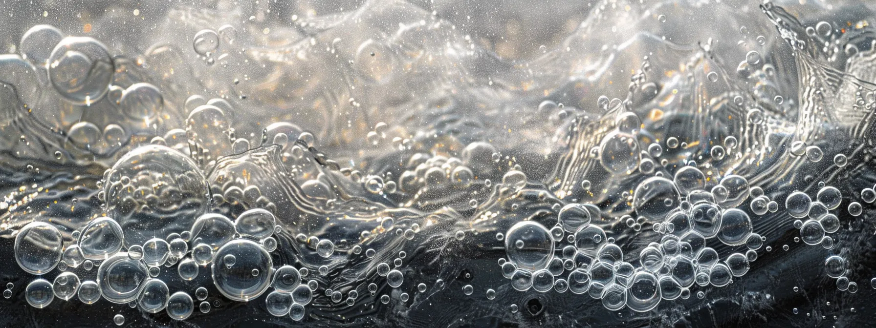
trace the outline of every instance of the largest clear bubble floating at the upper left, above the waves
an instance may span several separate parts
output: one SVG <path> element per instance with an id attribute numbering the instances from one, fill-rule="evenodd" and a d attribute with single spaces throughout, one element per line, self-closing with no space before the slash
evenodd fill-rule
<path id="1" fill-rule="evenodd" d="M 63 38 L 48 59 L 48 76 L 55 91 L 76 105 L 101 100 L 109 91 L 115 69 L 106 45 L 94 38 Z"/>

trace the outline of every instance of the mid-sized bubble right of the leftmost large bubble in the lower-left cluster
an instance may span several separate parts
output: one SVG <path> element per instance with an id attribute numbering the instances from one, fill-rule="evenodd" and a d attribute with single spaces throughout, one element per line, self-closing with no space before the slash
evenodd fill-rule
<path id="1" fill-rule="evenodd" d="M 79 247 L 88 260 L 104 260 L 122 249 L 124 234 L 115 220 L 100 217 L 82 228 Z"/>

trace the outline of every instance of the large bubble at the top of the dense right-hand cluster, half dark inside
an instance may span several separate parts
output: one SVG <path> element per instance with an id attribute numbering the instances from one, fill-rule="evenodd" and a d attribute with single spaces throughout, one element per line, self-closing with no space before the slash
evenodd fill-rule
<path id="1" fill-rule="evenodd" d="M 647 220 L 660 221 L 678 206 L 679 197 L 678 190 L 668 178 L 647 178 L 636 187 L 632 196 L 632 207 Z"/>

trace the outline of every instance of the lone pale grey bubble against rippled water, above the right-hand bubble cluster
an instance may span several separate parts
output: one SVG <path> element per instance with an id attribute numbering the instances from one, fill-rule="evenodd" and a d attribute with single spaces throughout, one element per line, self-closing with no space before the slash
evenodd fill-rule
<path id="1" fill-rule="evenodd" d="M 599 144 L 599 163 L 614 174 L 628 174 L 639 166 L 639 143 L 635 136 L 613 131 Z"/>

